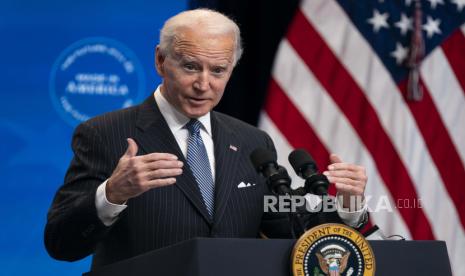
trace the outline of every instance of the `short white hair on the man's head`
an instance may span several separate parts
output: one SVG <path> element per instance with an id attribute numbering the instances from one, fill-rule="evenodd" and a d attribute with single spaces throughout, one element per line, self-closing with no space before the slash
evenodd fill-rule
<path id="1" fill-rule="evenodd" d="M 160 31 L 160 53 L 166 56 L 171 52 L 174 38 L 179 34 L 179 29 L 196 27 L 207 30 L 209 34 L 214 35 L 233 34 L 235 44 L 233 65 L 236 65 L 243 51 L 239 27 L 226 15 L 204 8 L 181 12 L 165 22 Z"/>

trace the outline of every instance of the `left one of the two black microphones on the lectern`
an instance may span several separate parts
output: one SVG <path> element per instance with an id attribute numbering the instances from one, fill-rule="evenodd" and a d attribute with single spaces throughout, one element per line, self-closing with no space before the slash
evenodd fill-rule
<path id="1" fill-rule="evenodd" d="M 267 180 L 271 191 L 278 195 L 291 195 L 291 178 L 283 166 L 279 166 L 273 153 L 257 148 L 250 154 L 255 170 Z"/>

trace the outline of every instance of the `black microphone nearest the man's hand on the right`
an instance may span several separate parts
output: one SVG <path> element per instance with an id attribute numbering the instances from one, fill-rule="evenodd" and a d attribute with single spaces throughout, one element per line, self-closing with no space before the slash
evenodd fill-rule
<path id="1" fill-rule="evenodd" d="M 327 195 L 328 178 L 318 173 L 318 167 L 312 156 L 304 149 L 296 149 L 289 154 L 289 163 L 298 176 L 305 179 L 305 190 L 315 195 Z"/>

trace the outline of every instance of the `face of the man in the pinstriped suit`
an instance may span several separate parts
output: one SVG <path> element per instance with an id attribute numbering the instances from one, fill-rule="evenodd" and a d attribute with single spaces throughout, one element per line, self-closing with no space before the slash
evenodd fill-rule
<path id="1" fill-rule="evenodd" d="M 207 114 L 223 96 L 233 58 L 233 35 L 183 30 L 176 36 L 171 53 L 163 57 L 157 48 L 156 65 L 163 78 L 163 96 L 189 118 Z"/>

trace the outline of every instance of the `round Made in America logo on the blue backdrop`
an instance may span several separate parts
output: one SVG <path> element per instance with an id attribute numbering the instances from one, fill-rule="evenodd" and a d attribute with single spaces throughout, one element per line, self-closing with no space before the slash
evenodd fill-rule
<path id="1" fill-rule="evenodd" d="M 145 75 L 136 55 L 108 38 L 86 38 L 58 57 L 50 75 L 50 96 L 72 126 L 104 112 L 129 107 L 144 95 Z"/>

